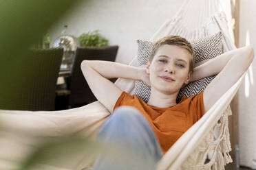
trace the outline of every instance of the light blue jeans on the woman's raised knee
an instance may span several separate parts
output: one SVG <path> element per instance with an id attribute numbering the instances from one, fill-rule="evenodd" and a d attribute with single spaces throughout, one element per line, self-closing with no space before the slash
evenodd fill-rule
<path id="1" fill-rule="evenodd" d="M 97 140 L 105 148 L 98 153 L 95 170 L 153 170 L 162 158 L 160 145 L 147 119 L 130 106 L 116 108 L 100 127 Z"/>

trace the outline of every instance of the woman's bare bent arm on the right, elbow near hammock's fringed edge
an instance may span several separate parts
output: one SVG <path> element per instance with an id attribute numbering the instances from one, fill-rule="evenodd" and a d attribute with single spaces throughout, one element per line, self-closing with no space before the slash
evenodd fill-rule
<path id="1" fill-rule="evenodd" d="M 231 88 L 248 69 L 255 54 L 250 46 L 223 53 L 204 64 L 195 67 L 191 81 L 216 75 L 215 79 L 204 90 L 204 112 Z"/>

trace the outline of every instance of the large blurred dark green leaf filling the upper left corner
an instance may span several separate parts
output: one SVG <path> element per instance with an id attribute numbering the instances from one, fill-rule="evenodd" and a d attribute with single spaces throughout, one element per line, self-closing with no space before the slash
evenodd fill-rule
<path id="1" fill-rule="evenodd" d="M 0 109 L 9 108 L 31 80 L 28 49 L 78 0 L 0 0 Z M 21 88 L 22 87 L 22 88 Z"/>

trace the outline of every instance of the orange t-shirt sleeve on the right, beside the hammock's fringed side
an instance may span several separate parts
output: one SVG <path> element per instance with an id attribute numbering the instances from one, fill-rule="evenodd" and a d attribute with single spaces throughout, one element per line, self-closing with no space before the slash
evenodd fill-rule
<path id="1" fill-rule="evenodd" d="M 204 91 L 191 99 L 191 110 L 196 112 L 196 121 L 204 115 Z"/>

